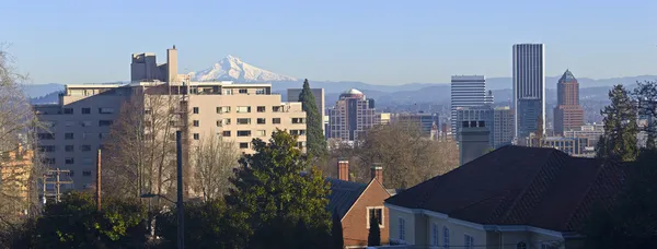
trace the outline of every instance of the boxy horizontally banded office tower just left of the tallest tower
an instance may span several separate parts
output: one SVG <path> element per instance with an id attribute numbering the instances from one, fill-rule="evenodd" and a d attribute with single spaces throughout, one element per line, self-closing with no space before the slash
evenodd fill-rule
<path id="1" fill-rule="evenodd" d="M 453 75 L 451 78 L 451 132 L 457 133 L 457 108 L 483 106 L 487 102 L 484 75 Z"/>

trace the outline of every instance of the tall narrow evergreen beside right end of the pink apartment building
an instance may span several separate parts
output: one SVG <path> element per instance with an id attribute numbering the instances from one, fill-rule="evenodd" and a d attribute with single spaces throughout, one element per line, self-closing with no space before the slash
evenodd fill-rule
<path id="1" fill-rule="evenodd" d="M 308 79 L 303 81 L 303 90 L 299 94 L 299 102 L 301 102 L 303 111 L 306 111 L 306 143 L 308 154 L 312 158 L 323 157 L 328 154 L 326 139 L 324 139 L 324 129 L 322 129 L 322 126 L 324 126 L 324 110 L 319 112 L 315 97 L 312 91 L 310 91 Z"/>

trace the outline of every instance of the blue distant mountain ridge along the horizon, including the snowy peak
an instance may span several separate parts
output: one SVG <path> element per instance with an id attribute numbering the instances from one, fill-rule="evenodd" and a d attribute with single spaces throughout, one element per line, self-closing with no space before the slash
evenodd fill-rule
<path id="1" fill-rule="evenodd" d="M 577 72 L 574 72 L 577 75 Z M 257 68 L 242 61 L 238 57 L 227 56 L 219 60 L 214 66 L 192 72 L 191 75 L 196 81 L 233 81 L 237 83 L 270 83 L 273 92 L 286 94 L 287 88 L 299 88 L 302 86 L 302 80 L 278 74 L 268 70 Z M 558 78 L 545 78 L 546 98 L 548 102 L 553 98 L 554 88 Z M 587 99 L 606 99 L 609 86 L 614 84 L 624 84 L 627 86 L 634 85 L 637 81 L 655 81 L 657 75 L 638 75 L 612 79 L 588 79 L 578 78 L 581 98 Z M 331 106 L 337 99 L 341 92 L 347 88 L 358 88 L 368 97 L 377 99 L 378 104 L 395 104 L 395 103 L 420 103 L 429 102 L 436 104 L 449 104 L 450 85 L 446 83 L 408 83 L 402 85 L 378 85 L 357 81 L 312 81 L 311 87 L 324 88 L 326 93 L 326 105 Z M 488 78 L 486 79 L 486 88 L 493 90 L 495 102 L 507 102 L 511 97 L 512 78 Z M 58 92 L 64 88 L 62 84 L 32 84 L 25 87 L 25 93 L 37 98 L 53 92 Z M 48 98 L 41 99 L 43 102 L 56 100 L 56 95 L 49 95 Z M 285 96 L 284 96 L 285 97 Z M 554 97 L 555 98 L 555 97 Z M 285 99 L 285 98 L 284 98 Z"/>

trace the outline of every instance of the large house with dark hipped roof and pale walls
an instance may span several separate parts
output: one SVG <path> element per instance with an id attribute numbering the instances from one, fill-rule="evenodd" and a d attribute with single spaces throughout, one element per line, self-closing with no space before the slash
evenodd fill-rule
<path id="1" fill-rule="evenodd" d="M 609 206 L 622 165 L 555 149 L 503 146 L 388 200 L 395 248 L 579 248 L 595 203 Z"/>

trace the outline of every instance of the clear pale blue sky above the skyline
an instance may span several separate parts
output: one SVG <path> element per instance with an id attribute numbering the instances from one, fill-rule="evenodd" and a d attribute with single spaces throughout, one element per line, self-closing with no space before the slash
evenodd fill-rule
<path id="1" fill-rule="evenodd" d="M 3 2 L 0 42 L 33 83 L 129 80 L 132 52 L 178 49 L 181 73 L 227 55 L 276 73 L 372 84 L 511 74 L 545 44 L 546 74 L 657 74 L 654 0 L 58 0 Z"/>

